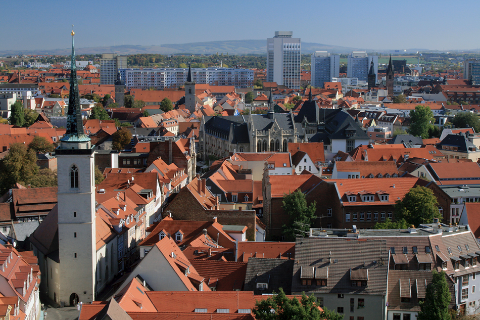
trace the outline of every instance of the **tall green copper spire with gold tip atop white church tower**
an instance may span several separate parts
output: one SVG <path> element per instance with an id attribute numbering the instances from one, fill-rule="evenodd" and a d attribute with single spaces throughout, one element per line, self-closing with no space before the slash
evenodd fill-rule
<path id="1" fill-rule="evenodd" d="M 63 142 L 87 142 L 90 138 L 83 132 L 82 110 L 78 98 L 77 66 L 75 63 L 75 45 L 72 30 L 72 65 L 70 67 L 70 94 L 68 98 L 67 132 L 62 137 Z"/>

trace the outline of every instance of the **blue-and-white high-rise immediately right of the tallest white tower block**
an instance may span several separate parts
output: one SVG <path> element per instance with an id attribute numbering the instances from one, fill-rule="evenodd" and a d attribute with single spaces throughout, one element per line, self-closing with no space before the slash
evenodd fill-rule
<path id="1" fill-rule="evenodd" d="M 331 82 L 333 77 L 340 75 L 340 55 L 330 55 L 326 51 L 315 51 L 312 54 L 310 84 L 323 87 L 323 82 Z"/>

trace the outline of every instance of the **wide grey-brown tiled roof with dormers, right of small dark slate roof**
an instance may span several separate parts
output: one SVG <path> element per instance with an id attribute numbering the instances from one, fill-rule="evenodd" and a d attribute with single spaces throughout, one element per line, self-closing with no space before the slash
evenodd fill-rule
<path id="1" fill-rule="evenodd" d="M 298 238 L 295 247 L 299 263 L 294 264 L 292 292 L 387 295 L 389 250 L 385 240 Z M 326 266 L 326 286 L 317 286 L 315 281 L 302 285 L 301 267 Z M 368 270 L 367 287 L 352 287 L 350 271 L 359 269 Z"/>

